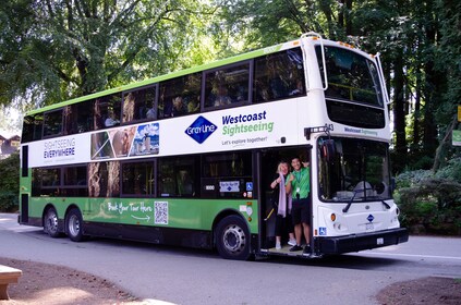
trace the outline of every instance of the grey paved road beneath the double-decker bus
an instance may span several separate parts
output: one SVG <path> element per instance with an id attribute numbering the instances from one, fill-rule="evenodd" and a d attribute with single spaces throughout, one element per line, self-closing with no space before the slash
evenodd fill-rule
<path id="1" fill-rule="evenodd" d="M 0 213 L 0 256 L 68 266 L 161 304 L 377 304 L 386 285 L 426 276 L 461 278 L 461 239 L 409 243 L 306 260 L 221 259 L 216 253 L 95 239 L 50 239 Z"/>

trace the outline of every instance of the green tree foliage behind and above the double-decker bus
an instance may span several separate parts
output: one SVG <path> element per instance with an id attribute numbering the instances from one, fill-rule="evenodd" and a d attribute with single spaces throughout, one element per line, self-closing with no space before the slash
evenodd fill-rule
<path id="1" fill-rule="evenodd" d="M 43 106 L 314 30 L 381 53 L 393 171 L 444 168 L 461 100 L 461 3 L 449 0 L 7 0 L 0 103 Z"/>

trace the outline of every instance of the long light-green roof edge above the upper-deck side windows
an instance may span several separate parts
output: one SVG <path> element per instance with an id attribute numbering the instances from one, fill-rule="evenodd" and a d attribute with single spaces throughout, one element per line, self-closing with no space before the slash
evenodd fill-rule
<path id="1" fill-rule="evenodd" d="M 171 73 L 163 74 L 163 75 L 160 75 L 160 76 L 155 76 L 155 77 L 147 78 L 147 80 L 144 80 L 144 81 L 139 81 L 139 82 L 131 83 L 131 84 L 128 84 L 128 85 L 123 85 L 123 86 L 106 89 L 106 90 L 102 90 L 102 91 L 89 94 L 89 95 L 86 95 L 86 96 L 73 98 L 73 99 L 70 99 L 70 100 L 57 102 L 57 103 L 49 105 L 49 106 L 46 106 L 46 107 L 43 107 L 43 108 L 31 110 L 26 113 L 26 115 L 37 114 L 37 113 L 50 111 L 50 110 L 53 110 L 53 109 L 59 109 L 61 107 L 64 107 L 64 106 L 68 106 L 68 105 L 73 105 L 73 103 L 76 103 L 76 102 L 80 102 L 80 101 L 85 101 L 85 100 L 89 100 L 89 99 L 93 99 L 93 98 L 98 98 L 98 97 L 101 97 L 101 96 L 117 94 L 117 93 L 121 93 L 121 91 L 124 91 L 124 90 L 130 90 L 130 89 L 134 89 L 134 88 L 138 88 L 138 87 L 144 87 L 144 86 L 156 84 L 156 83 L 159 83 L 159 82 L 162 82 L 162 81 L 166 81 L 166 80 L 175 78 L 175 77 L 192 74 L 192 73 L 195 73 L 195 72 L 202 72 L 202 71 L 205 71 L 205 70 L 210 70 L 210 69 L 232 64 L 232 63 L 235 63 L 235 62 L 248 60 L 248 59 L 252 59 L 252 58 L 274 53 L 274 52 L 286 50 L 286 49 L 291 49 L 291 48 L 294 48 L 294 47 L 299 47 L 300 45 L 301 44 L 300 44 L 299 39 L 291 40 L 291 41 L 288 41 L 288 42 L 282 42 L 282 44 L 279 44 L 279 45 L 275 45 L 275 46 L 257 49 L 257 50 L 254 50 L 254 51 L 245 52 L 245 53 L 242 53 L 242 54 L 233 56 L 233 57 L 230 57 L 230 58 L 227 58 L 227 59 L 213 61 L 210 63 L 206 63 L 206 64 L 202 64 L 202 65 L 197 65 L 197 66 L 171 72 Z"/>

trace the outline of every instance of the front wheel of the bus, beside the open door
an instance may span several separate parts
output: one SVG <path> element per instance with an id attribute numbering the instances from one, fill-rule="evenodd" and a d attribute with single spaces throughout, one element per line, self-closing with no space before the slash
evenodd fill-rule
<path id="1" fill-rule="evenodd" d="M 216 247 L 226 259 L 247 260 L 250 258 L 250 231 L 239 216 L 228 216 L 216 227 Z"/>

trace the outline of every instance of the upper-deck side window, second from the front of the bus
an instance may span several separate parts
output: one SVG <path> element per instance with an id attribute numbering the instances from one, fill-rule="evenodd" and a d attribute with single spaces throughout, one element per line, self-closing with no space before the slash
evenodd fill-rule
<path id="1" fill-rule="evenodd" d="M 205 108 L 248 101 L 250 63 L 206 72 Z"/>

